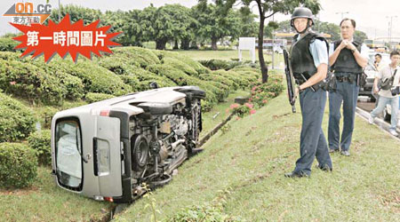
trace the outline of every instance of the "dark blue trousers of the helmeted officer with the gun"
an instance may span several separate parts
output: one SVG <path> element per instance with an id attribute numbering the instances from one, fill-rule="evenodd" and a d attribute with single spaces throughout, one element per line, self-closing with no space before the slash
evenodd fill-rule
<path id="1" fill-rule="evenodd" d="M 303 171 L 308 175 L 316 157 L 319 167 L 328 165 L 332 168 L 331 156 L 321 124 L 326 103 L 326 91 L 316 92 L 307 88 L 300 93 L 300 107 L 303 122 L 300 133 L 300 158 L 296 162 L 294 172 Z"/>

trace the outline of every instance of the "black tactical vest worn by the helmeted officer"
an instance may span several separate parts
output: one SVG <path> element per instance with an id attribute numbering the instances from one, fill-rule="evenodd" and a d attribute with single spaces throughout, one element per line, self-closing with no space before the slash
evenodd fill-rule
<path id="1" fill-rule="evenodd" d="M 297 40 L 298 36 L 299 34 L 294 36 L 294 40 Z M 293 41 L 291 47 L 291 65 L 294 78 L 297 80 L 304 81 L 301 75 L 309 79 L 309 77 L 316 74 L 316 65 L 314 65 L 313 56 L 309 51 L 309 44 L 312 44 L 316 39 L 324 41 L 326 47 L 329 47 L 323 36 L 318 36 L 312 32 L 309 32 L 297 42 Z"/>

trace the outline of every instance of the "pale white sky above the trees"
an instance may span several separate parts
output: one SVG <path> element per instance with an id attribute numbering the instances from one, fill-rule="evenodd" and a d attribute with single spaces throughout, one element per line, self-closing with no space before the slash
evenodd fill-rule
<path id="1" fill-rule="evenodd" d="M 3 17 L 12 4 L 24 2 L 22 0 L 1 0 L 0 1 L 0 36 L 7 32 L 15 33 L 8 22 L 10 17 Z M 25 1 L 26 2 L 26 1 Z M 34 4 L 45 4 L 45 0 L 32 0 Z M 319 20 L 340 23 L 342 18 L 356 20 L 356 29 L 364 31 L 371 39 L 388 37 L 389 20 L 392 17 L 392 40 L 400 42 L 400 0 L 320 0 L 322 10 L 317 17 Z M 50 0 L 52 8 L 58 8 L 58 0 Z M 131 9 L 143 9 L 150 4 L 162 6 L 164 4 L 182 4 L 191 7 L 197 4 L 197 0 L 60 0 L 60 4 L 77 4 L 84 7 L 99 9 L 102 12 L 107 10 L 128 11 Z M 258 13 L 257 6 L 252 8 L 254 13 Z M 290 14 L 276 14 L 274 20 L 289 20 Z M 271 18 L 272 20 L 272 18 Z M 268 21 L 266 22 L 266 24 Z M 397 38 L 396 38 L 397 37 Z"/>

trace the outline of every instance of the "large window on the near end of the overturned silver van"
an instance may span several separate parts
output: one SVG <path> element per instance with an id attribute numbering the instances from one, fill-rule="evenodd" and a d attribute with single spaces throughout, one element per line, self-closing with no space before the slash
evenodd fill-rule
<path id="1" fill-rule="evenodd" d="M 59 183 L 76 189 L 82 183 L 81 131 L 77 121 L 61 121 L 56 125 L 55 152 Z"/>

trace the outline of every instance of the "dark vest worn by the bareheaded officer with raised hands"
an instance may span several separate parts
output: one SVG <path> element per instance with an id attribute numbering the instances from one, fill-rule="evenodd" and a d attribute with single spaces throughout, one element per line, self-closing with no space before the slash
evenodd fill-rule
<path id="1" fill-rule="evenodd" d="M 334 42 L 333 50 L 336 50 L 340 43 L 341 40 Z M 353 42 L 353 44 L 356 46 L 358 52 L 361 52 L 361 44 L 357 42 Z M 336 59 L 336 62 L 332 66 L 332 70 L 334 70 L 336 73 L 360 74 L 363 72 L 363 67 L 358 65 L 353 52 L 351 52 L 348 48 L 344 48 L 340 51 L 338 59 Z"/>

